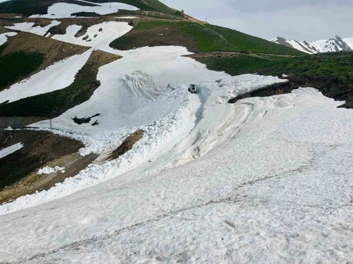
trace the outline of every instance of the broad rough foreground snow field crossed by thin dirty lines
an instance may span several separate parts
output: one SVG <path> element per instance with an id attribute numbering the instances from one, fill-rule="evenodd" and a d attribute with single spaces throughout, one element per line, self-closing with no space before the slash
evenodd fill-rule
<path id="1" fill-rule="evenodd" d="M 212 90 L 210 99 L 222 106 Z M 228 139 L 192 162 L 139 168 L 1 216 L 0 259 L 19 261 L 17 251 L 44 254 L 29 263 L 351 261 L 353 115 L 339 104 L 300 89 L 229 105 L 235 124 L 219 126 Z"/>

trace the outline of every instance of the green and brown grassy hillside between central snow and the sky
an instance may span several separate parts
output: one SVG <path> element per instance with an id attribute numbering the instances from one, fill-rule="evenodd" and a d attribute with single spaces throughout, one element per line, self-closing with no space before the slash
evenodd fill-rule
<path id="1" fill-rule="evenodd" d="M 229 35 L 229 44 L 227 43 Z M 226 38 L 226 37 L 227 38 Z M 184 46 L 192 52 L 251 51 L 280 55 L 304 55 L 305 53 L 235 30 L 193 22 L 145 21 L 132 31 L 114 40 L 117 49 L 133 49 L 145 46 Z"/>

